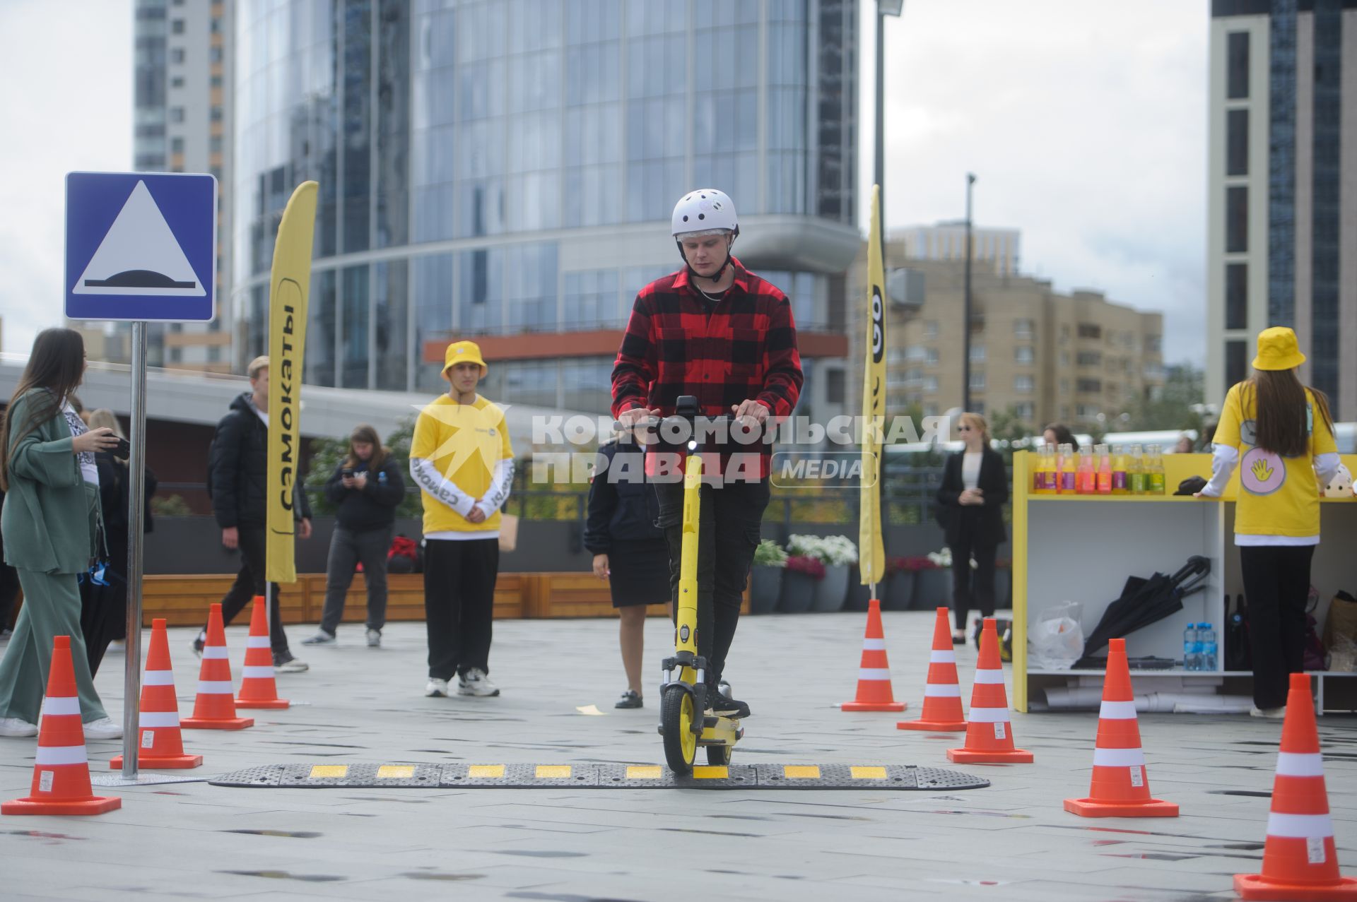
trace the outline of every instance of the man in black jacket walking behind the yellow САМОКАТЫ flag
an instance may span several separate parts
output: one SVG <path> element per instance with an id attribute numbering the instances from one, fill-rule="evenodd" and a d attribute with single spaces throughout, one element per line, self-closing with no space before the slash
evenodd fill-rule
<path id="1" fill-rule="evenodd" d="M 269 480 L 269 358 L 250 362 L 250 389 L 231 401 L 231 412 L 217 423 L 208 457 L 208 494 L 212 513 L 221 526 L 221 544 L 240 549 L 240 572 L 231 591 L 221 600 L 223 625 L 240 613 L 255 595 L 265 594 L 265 487 Z M 311 505 L 297 480 L 294 510 L 301 521 L 299 534 L 311 538 Z M 278 586 L 273 586 L 269 616 L 269 639 L 273 644 L 273 669 L 300 673 L 307 665 L 292 656 L 288 636 L 278 616 Z M 202 654 L 206 631 L 193 640 L 195 654 Z"/>

